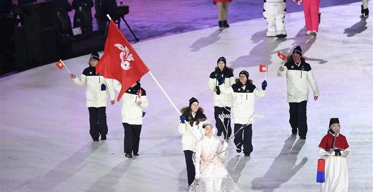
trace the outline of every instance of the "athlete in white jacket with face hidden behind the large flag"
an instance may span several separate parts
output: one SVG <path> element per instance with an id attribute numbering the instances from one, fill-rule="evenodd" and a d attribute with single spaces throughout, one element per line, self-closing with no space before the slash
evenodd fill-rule
<path id="1" fill-rule="evenodd" d="M 113 86 L 118 92 L 122 89 L 122 85 L 117 80 L 113 80 Z M 146 107 L 148 107 L 146 91 L 141 88 L 140 81 L 136 81 L 122 96 L 123 148 L 127 158 L 132 158 L 132 152 L 134 156 L 139 155 L 143 109 Z"/>

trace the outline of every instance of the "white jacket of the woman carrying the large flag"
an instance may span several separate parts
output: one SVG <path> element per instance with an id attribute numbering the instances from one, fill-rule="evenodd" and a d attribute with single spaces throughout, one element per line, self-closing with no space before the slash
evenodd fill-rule
<path id="1" fill-rule="evenodd" d="M 198 114 L 197 114 L 198 115 Z M 185 123 L 179 123 L 179 133 L 183 134 L 182 137 L 182 144 L 183 144 L 183 151 L 190 150 L 193 151 L 195 148 L 195 144 L 202 138 L 201 128 L 203 124 L 207 121 L 207 118 L 204 114 L 199 115 L 199 124 L 197 125 L 195 122 L 193 126 L 190 126 L 190 117 L 187 117 Z"/>

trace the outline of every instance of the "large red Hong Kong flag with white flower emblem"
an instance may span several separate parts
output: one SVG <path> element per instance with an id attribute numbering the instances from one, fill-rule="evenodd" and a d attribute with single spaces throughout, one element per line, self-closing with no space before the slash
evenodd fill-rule
<path id="1" fill-rule="evenodd" d="M 105 78 L 116 79 L 122 84 L 117 98 L 119 101 L 124 92 L 148 71 L 149 68 L 110 20 L 105 50 L 96 66 L 96 74 L 101 73 Z"/>

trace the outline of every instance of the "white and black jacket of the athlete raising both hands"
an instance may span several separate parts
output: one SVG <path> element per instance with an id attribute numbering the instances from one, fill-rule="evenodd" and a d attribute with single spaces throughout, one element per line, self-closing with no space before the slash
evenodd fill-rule
<path id="1" fill-rule="evenodd" d="M 233 122 L 234 124 L 254 123 L 254 101 L 255 96 L 264 97 L 266 91 L 256 88 L 255 85 L 247 83 L 242 89 L 242 83 L 237 82 L 228 89 L 220 85 L 221 92 L 233 95 Z"/>

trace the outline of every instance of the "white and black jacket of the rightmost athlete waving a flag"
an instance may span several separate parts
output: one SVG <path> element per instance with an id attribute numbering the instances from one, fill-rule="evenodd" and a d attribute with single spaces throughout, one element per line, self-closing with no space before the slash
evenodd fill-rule
<path id="1" fill-rule="evenodd" d="M 313 96 L 319 96 L 319 89 L 309 64 L 302 61 L 297 66 L 292 60 L 288 60 L 283 68 L 283 71 L 277 71 L 277 75 L 286 74 L 288 103 L 308 101 L 308 83 L 311 85 Z"/>

